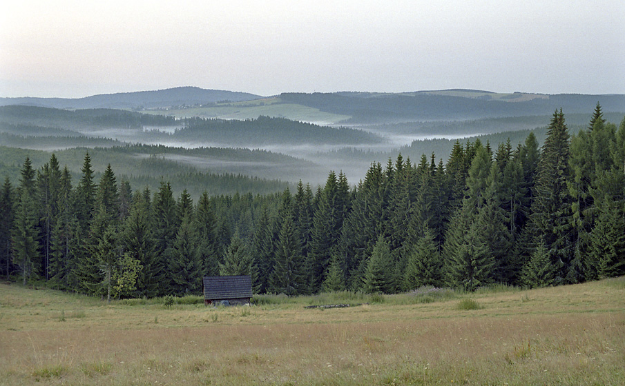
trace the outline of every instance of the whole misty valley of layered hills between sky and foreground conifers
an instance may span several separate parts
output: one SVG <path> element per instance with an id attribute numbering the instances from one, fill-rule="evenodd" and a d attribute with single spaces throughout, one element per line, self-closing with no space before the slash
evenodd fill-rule
<path id="1" fill-rule="evenodd" d="M 497 146 L 510 139 L 517 145 L 530 131 L 540 140 L 558 108 L 566 111 L 575 132 L 586 125 L 597 101 L 609 121 L 622 118 L 625 96 L 618 94 L 441 90 L 264 97 L 174 88 L 81 99 L 1 98 L 0 145 L 6 147 L 3 152 L 58 152 L 61 162 L 69 149 L 132 149 L 131 164 L 124 167 L 129 178 L 137 177 L 133 162 L 158 158 L 174 169 L 312 185 L 323 184 L 334 170 L 356 184 L 371 163 L 384 164 L 400 152 L 413 162 L 422 154 L 445 161 L 456 140 L 479 137 Z M 200 153 L 186 154 L 193 149 Z M 249 150 L 272 156 L 269 160 L 256 152 L 250 157 Z M 4 162 L 16 179 L 15 165 Z M 72 171 L 79 172 L 77 165 Z"/>

